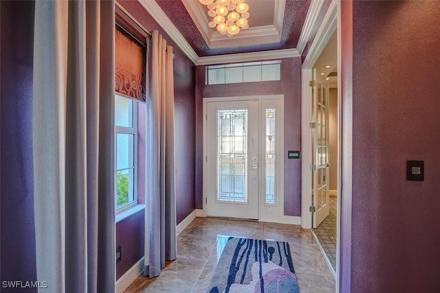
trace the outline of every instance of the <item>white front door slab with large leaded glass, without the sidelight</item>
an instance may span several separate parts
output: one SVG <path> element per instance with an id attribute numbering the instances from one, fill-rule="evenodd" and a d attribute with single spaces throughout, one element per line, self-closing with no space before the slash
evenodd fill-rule
<path id="1" fill-rule="evenodd" d="M 259 217 L 259 100 L 208 102 L 207 215 Z"/>

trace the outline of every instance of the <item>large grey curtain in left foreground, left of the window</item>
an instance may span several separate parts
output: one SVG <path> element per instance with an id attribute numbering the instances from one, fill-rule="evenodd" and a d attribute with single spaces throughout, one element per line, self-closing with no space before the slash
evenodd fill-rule
<path id="1" fill-rule="evenodd" d="M 114 1 L 36 1 L 34 217 L 41 292 L 115 292 Z"/>

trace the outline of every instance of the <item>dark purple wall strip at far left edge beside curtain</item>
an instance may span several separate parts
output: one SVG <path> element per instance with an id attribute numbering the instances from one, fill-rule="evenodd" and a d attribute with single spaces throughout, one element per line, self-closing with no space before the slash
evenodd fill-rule
<path id="1" fill-rule="evenodd" d="M 32 163 L 34 3 L 0 1 L 0 11 L 0 279 L 36 281 Z M 36 289 L 1 288 L 1 292 L 10 291 Z"/>

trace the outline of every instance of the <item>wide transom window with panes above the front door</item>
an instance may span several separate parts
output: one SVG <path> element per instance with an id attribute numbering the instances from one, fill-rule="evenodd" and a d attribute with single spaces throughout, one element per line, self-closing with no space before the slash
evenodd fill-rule
<path id="1" fill-rule="evenodd" d="M 271 80 L 281 80 L 281 61 L 237 63 L 206 67 L 206 83 L 208 85 Z"/>

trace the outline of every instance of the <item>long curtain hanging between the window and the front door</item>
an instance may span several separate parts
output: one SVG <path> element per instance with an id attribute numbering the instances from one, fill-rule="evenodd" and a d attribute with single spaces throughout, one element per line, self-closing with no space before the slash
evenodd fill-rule
<path id="1" fill-rule="evenodd" d="M 149 133 L 144 275 L 159 276 L 165 260 L 177 257 L 174 154 L 173 47 L 166 45 L 157 31 L 152 32 Z M 147 235 L 149 237 L 147 237 Z M 147 257 L 146 257 L 147 259 Z"/>

